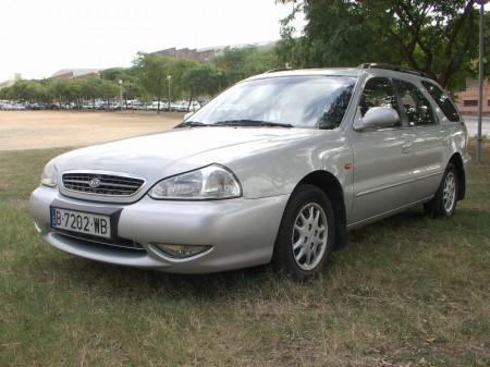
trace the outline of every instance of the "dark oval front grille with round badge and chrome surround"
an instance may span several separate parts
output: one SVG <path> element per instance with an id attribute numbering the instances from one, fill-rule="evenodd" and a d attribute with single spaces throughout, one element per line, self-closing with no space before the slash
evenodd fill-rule
<path id="1" fill-rule="evenodd" d="M 142 179 L 101 173 L 64 173 L 63 187 L 70 191 L 111 196 L 131 196 L 145 183 Z"/>

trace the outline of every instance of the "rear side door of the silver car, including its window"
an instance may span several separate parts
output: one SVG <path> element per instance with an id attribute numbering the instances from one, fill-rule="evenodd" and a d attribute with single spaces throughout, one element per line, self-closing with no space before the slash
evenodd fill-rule
<path id="1" fill-rule="evenodd" d="M 414 200 L 432 196 L 442 179 L 445 166 L 444 127 L 440 124 L 432 105 L 419 86 L 394 79 L 400 96 L 402 114 L 413 130 Z"/>

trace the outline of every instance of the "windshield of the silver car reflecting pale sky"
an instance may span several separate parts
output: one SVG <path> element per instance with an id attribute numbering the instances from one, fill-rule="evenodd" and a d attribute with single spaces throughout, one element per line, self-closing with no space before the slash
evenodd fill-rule
<path id="1" fill-rule="evenodd" d="M 355 81 L 345 76 L 308 75 L 238 83 L 181 126 L 334 129 L 342 122 Z"/>

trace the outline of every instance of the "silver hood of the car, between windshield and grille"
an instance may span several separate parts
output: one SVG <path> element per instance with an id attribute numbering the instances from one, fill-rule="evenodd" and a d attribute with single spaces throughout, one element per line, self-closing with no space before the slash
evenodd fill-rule
<path id="1" fill-rule="evenodd" d="M 225 163 L 233 152 L 250 154 L 254 150 L 250 144 L 262 149 L 264 145 L 273 146 L 313 132 L 281 127 L 176 129 L 76 149 L 58 157 L 54 163 L 61 173 L 71 170 L 121 172 L 155 182 L 203 166 Z M 248 147 L 243 149 L 244 145 Z M 198 159 L 199 156 L 203 159 Z"/>

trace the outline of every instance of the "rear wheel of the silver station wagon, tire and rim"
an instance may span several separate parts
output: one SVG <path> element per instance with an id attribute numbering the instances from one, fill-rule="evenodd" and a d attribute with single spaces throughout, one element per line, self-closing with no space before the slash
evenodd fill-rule
<path id="1" fill-rule="evenodd" d="M 432 218 L 452 217 L 457 206 L 458 182 L 456 168 L 449 163 L 432 200 L 424 205 L 425 212 Z"/>

